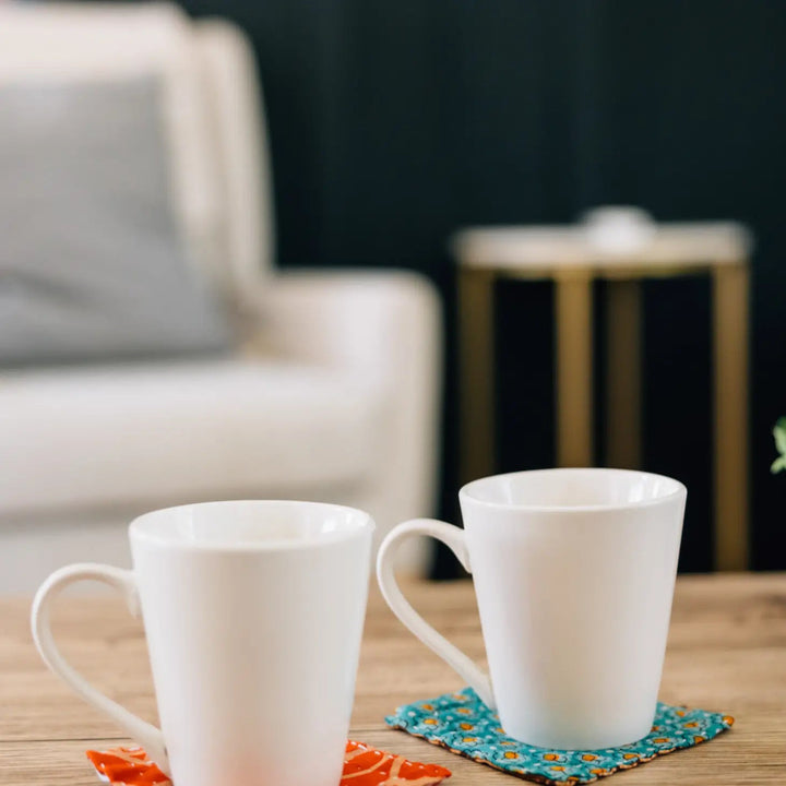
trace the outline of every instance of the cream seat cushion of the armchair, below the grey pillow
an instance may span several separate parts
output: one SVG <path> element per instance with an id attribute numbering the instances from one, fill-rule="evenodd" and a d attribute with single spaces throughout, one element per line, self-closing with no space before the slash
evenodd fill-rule
<path id="1" fill-rule="evenodd" d="M 0 515 L 349 486 L 384 406 L 358 374 L 240 359 L 7 373 Z"/>

